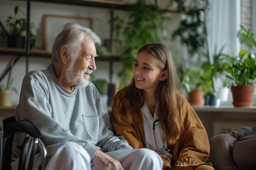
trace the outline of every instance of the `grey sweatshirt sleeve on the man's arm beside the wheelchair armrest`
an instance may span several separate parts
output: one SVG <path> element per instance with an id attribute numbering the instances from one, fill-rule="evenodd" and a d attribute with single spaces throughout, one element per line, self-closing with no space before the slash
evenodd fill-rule
<path id="1" fill-rule="evenodd" d="M 62 128 L 52 118 L 51 113 L 47 82 L 42 77 L 28 73 L 22 83 L 20 101 L 16 108 L 16 119 L 32 122 L 39 129 L 41 139 L 46 146 L 72 141 L 83 146 L 92 158 L 100 148 L 87 140 L 74 136 L 68 129 Z"/>

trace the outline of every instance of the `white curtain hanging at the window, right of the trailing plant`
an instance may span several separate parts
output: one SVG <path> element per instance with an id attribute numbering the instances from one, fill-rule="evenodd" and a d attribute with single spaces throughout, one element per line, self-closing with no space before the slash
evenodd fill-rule
<path id="1" fill-rule="evenodd" d="M 219 52 L 223 45 L 223 53 L 238 55 L 240 43 L 236 34 L 240 28 L 240 0 L 209 0 L 205 17 L 210 56 L 215 48 Z"/>

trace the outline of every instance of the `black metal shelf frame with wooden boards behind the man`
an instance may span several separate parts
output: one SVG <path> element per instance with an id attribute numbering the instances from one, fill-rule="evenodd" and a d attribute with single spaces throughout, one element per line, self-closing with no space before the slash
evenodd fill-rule
<path id="1" fill-rule="evenodd" d="M 61 4 L 71 4 L 71 5 L 83 5 L 89 7 L 99 7 L 99 8 L 109 8 L 110 17 L 113 19 L 114 17 L 114 9 L 122 9 L 127 10 L 130 8 L 130 5 L 119 2 L 119 1 L 107 1 L 107 0 L 26 0 L 27 2 L 27 28 L 30 28 L 30 5 L 32 1 L 37 2 L 46 2 L 46 3 L 61 3 Z M 112 56 L 112 46 L 113 46 L 113 24 L 111 24 L 110 29 L 110 49 L 111 49 L 111 56 L 99 56 L 96 59 L 99 61 L 108 61 L 110 64 L 109 72 L 110 72 L 110 83 L 112 83 L 112 74 L 113 74 L 113 61 L 120 61 L 120 57 Z M 43 50 L 31 50 L 30 49 L 30 29 L 27 29 L 27 39 L 26 39 L 26 48 L 25 49 L 13 49 L 13 48 L 0 48 L 0 54 L 7 54 L 7 55 L 17 55 L 14 60 L 14 64 L 20 59 L 21 56 L 26 57 L 26 73 L 28 72 L 28 64 L 29 64 L 29 57 L 51 57 L 51 53 Z M 1 80 L 4 76 L 8 73 L 11 69 L 9 66 L 5 72 L 2 74 L 0 78 Z"/>

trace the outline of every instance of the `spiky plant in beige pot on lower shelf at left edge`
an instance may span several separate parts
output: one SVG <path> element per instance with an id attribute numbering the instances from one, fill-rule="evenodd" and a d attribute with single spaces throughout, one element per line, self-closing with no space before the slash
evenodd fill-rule
<path id="1" fill-rule="evenodd" d="M 6 86 L 4 87 L 4 85 L 0 85 L 0 106 L 11 107 L 13 91 L 18 93 L 15 88 L 11 87 L 13 82 L 13 78 L 11 78 L 13 63 L 14 63 L 14 60 L 12 60 L 11 62 L 11 69 L 9 70 Z"/>

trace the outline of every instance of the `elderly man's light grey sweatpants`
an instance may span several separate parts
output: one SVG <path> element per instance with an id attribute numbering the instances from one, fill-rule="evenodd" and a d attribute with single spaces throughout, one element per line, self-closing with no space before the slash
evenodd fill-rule
<path id="1" fill-rule="evenodd" d="M 91 158 L 86 150 L 74 143 L 63 142 L 46 147 L 47 165 L 46 170 L 95 170 L 91 167 Z M 160 156 L 146 148 L 142 149 L 121 149 L 112 152 L 106 152 L 109 156 L 118 160 L 125 170 L 161 170 L 163 162 Z M 18 169 L 19 159 L 12 162 L 14 170 Z M 34 160 L 33 169 L 37 169 L 41 164 L 41 155 L 37 154 Z"/>

